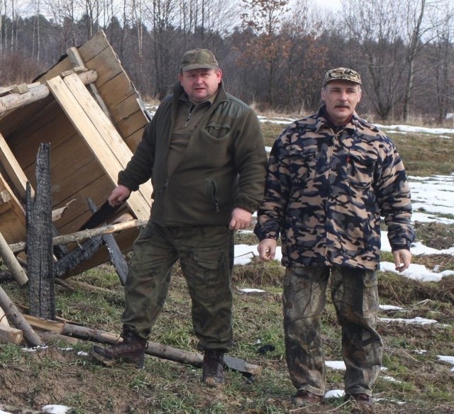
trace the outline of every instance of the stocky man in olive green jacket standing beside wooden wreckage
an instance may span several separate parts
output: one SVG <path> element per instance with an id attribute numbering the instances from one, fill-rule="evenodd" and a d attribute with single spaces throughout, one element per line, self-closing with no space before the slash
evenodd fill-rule
<path id="1" fill-rule="evenodd" d="M 94 347 L 96 359 L 143 366 L 145 342 L 179 259 L 204 352 L 203 380 L 223 383 L 223 354 L 233 345 L 233 230 L 247 227 L 258 208 L 266 162 L 258 118 L 226 93 L 213 53 L 186 52 L 179 83 L 157 108 L 109 197 L 118 205 L 152 180 L 151 217 L 135 241 L 125 285 L 123 342 Z"/>

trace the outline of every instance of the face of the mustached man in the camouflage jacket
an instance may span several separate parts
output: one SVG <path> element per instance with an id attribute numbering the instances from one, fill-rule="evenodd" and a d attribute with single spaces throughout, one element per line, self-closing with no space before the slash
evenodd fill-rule
<path id="1" fill-rule="evenodd" d="M 360 85 L 354 82 L 332 81 L 321 90 L 321 100 L 326 104 L 331 121 L 336 125 L 348 121 L 360 99 Z"/>

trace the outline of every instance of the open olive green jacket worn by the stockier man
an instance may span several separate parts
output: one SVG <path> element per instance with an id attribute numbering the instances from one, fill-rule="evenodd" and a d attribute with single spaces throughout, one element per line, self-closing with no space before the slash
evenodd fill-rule
<path id="1" fill-rule="evenodd" d="M 233 208 L 253 213 L 263 196 L 267 157 L 258 118 L 221 82 L 169 176 L 167 152 L 182 94 L 178 83 L 157 108 L 118 184 L 135 191 L 151 178 L 150 219 L 158 225 L 228 225 Z"/>

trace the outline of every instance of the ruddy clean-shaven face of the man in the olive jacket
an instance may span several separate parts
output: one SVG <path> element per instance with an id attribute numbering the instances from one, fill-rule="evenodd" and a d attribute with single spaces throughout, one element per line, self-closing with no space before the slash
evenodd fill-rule
<path id="1" fill-rule="evenodd" d="M 206 101 L 216 94 L 221 78 L 221 69 L 193 69 L 178 75 L 180 84 L 194 104 Z"/>

